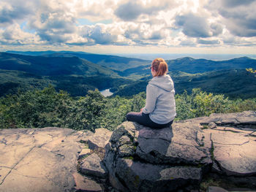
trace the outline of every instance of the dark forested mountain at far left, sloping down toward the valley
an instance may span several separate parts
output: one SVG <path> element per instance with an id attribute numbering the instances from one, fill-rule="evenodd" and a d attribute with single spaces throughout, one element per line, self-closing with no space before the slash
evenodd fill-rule
<path id="1" fill-rule="evenodd" d="M 18 89 L 44 88 L 53 85 L 72 96 L 84 96 L 98 88 L 116 88 L 132 80 L 83 58 L 45 57 L 0 53 L 0 96 Z"/>

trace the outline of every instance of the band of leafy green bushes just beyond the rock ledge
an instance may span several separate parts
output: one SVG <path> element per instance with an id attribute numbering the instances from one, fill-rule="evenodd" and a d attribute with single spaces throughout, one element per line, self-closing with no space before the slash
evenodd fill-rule
<path id="1" fill-rule="evenodd" d="M 108 128 L 113 130 L 126 120 L 127 112 L 145 105 L 146 93 L 128 99 L 120 96 L 105 98 L 98 90 L 84 97 L 71 97 L 57 92 L 53 86 L 43 90 L 21 92 L 0 98 L 1 128 L 38 128 L 58 126 L 76 130 Z M 176 95 L 176 120 L 197 118 L 213 112 L 256 110 L 256 99 L 230 100 L 224 95 L 193 89 Z"/>

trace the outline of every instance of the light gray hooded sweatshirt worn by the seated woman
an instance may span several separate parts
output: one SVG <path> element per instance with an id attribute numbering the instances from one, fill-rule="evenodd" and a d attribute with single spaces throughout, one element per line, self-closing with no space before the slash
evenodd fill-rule
<path id="1" fill-rule="evenodd" d="M 143 113 L 158 124 L 169 123 L 176 116 L 173 80 L 170 76 L 154 77 L 146 88 L 146 106 Z"/>

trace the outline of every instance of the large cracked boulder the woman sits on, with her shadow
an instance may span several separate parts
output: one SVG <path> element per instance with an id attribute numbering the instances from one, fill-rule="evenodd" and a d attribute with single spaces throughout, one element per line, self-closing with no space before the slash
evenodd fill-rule
<path id="1" fill-rule="evenodd" d="M 198 124 L 199 125 L 199 124 Z M 199 185 L 211 164 L 203 131 L 191 123 L 152 129 L 125 122 L 106 145 L 110 183 L 119 191 L 176 191 Z"/>

